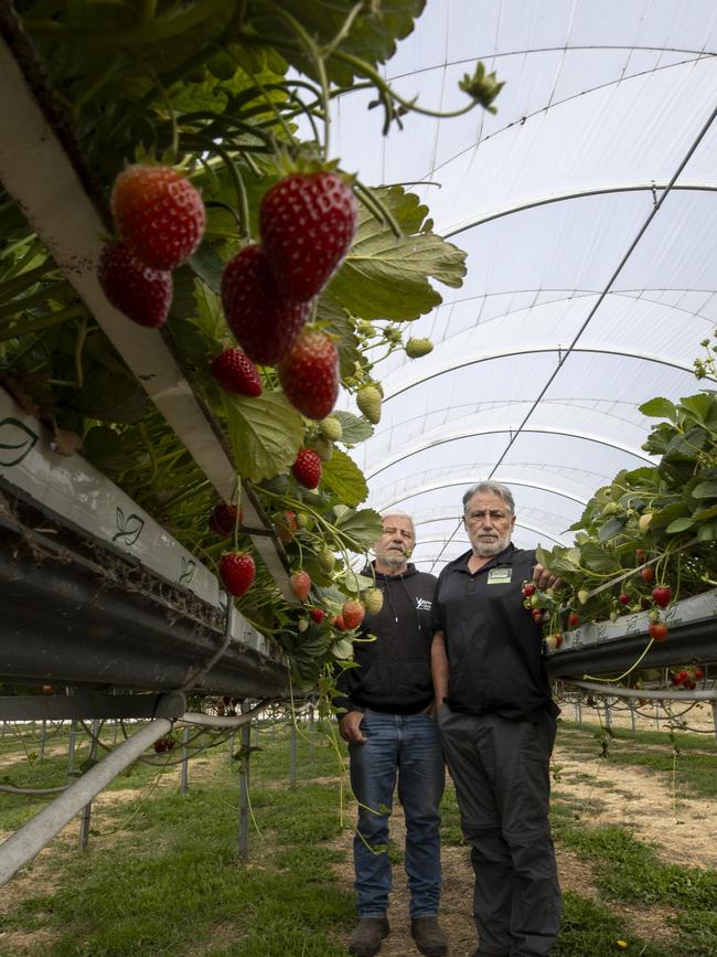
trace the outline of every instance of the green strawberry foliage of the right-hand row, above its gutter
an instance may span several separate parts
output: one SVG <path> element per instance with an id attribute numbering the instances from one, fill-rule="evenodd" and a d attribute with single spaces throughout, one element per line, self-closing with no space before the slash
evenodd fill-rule
<path id="1" fill-rule="evenodd" d="M 598 489 L 571 527 L 574 546 L 539 550 L 538 561 L 567 585 L 559 595 L 563 607 L 579 608 L 586 621 L 639 610 L 652 592 L 639 576 L 645 563 L 655 583 L 672 586 L 673 599 L 704 592 L 717 578 L 717 392 L 705 390 L 678 404 L 656 397 L 641 412 L 666 418 L 643 446 L 659 461 L 623 470 Z M 600 587 L 610 582 L 612 587 Z M 587 603 L 578 599 L 579 591 L 589 594 Z M 627 606 L 617 600 L 623 591 Z"/>

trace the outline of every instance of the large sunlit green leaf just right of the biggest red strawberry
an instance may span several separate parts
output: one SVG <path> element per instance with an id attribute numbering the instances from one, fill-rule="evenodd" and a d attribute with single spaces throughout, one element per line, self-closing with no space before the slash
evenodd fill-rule
<path id="1" fill-rule="evenodd" d="M 414 193 L 400 187 L 373 192 L 404 236 L 397 240 L 362 206 L 353 245 L 324 298 L 361 319 L 418 319 L 442 301 L 431 278 L 452 288 L 462 285 L 465 253 L 421 228 L 428 209 Z"/>

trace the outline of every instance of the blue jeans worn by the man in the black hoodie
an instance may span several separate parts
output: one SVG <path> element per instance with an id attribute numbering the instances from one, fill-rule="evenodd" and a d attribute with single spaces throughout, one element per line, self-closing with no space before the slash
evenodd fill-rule
<path id="1" fill-rule="evenodd" d="M 361 730 L 367 737 L 352 744 L 351 786 L 358 801 L 353 853 L 356 911 L 383 917 L 393 885 L 388 860 L 388 818 L 398 778 L 398 800 L 406 818 L 406 874 L 410 916 L 438 914 L 440 903 L 440 816 L 445 769 L 436 722 L 419 714 L 366 710 Z"/>

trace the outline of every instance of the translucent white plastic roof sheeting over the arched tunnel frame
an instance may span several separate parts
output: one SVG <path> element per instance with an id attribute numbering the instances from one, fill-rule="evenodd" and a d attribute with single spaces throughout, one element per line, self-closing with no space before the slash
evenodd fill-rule
<path id="1" fill-rule="evenodd" d="M 505 482 L 514 541 L 550 547 L 641 448 L 655 395 L 698 391 L 717 322 L 717 6 L 711 0 L 428 0 L 386 78 L 422 106 L 464 104 L 477 60 L 497 114 L 411 114 L 375 143 L 362 94 L 334 149 L 365 182 L 414 183 L 468 253 L 462 288 L 411 325 L 434 352 L 377 369 L 381 424 L 356 449 L 370 504 L 414 514 L 415 561 L 467 547 L 461 497 Z M 711 383 L 710 383 L 711 384 Z"/>

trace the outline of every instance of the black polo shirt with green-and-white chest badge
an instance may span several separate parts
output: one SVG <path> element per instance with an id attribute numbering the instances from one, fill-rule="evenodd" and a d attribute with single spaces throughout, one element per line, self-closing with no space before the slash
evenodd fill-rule
<path id="1" fill-rule="evenodd" d="M 442 631 L 448 653 L 449 706 L 518 720 L 555 713 L 542 631 L 523 607 L 535 552 L 510 544 L 478 572 L 468 568 L 471 555 L 446 565 L 434 602 L 432 628 Z"/>

